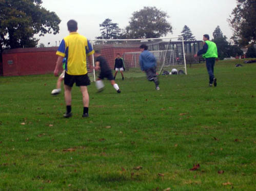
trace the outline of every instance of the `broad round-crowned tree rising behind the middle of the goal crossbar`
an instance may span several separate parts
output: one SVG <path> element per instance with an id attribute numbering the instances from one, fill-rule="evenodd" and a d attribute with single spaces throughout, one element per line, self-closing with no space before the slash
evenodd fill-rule
<path id="1" fill-rule="evenodd" d="M 172 26 L 167 21 L 169 16 L 156 7 L 144 7 L 132 13 L 124 36 L 128 38 L 159 38 L 172 33 Z"/>

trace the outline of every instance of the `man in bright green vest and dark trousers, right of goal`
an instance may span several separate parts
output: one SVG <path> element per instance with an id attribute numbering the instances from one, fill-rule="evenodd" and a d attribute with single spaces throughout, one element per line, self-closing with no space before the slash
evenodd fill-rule
<path id="1" fill-rule="evenodd" d="M 206 68 L 209 74 L 209 86 L 217 86 L 217 79 L 214 77 L 214 64 L 215 59 L 218 58 L 218 49 L 214 42 L 209 40 L 209 35 L 205 34 L 203 36 L 204 46 L 203 49 L 198 51 L 194 57 L 203 55 L 206 61 Z"/>

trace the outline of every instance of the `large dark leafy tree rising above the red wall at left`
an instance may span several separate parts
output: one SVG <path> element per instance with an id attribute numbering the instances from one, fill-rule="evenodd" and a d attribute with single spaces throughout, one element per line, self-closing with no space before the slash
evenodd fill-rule
<path id="1" fill-rule="evenodd" d="M 42 0 L 0 0 L 0 55 L 4 49 L 35 47 L 38 39 L 60 30 L 60 18 L 41 6 Z"/>

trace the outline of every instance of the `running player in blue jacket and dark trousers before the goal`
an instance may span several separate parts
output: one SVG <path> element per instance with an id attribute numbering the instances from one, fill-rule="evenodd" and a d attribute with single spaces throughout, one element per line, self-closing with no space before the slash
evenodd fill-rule
<path id="1" fill-rule="evenodd" d="M 141 70 L 145 71 L 149 81 L 154 82 L 155 89 L 160 90 L 159 80 L 156 76 L 156 59 L 154 55 L 148 51 L 148 46 L 146 44 L 140 46 L 140 51 L 142 52 L 140 55 Z"/>

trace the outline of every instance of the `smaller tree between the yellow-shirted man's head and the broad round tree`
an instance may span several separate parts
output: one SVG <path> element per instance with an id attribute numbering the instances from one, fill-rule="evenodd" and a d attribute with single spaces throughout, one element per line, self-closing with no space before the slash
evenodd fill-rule
<path id="1" fill-rule="evenodd" d="M 102 36 L 96 37 L 97 39 L 117 39 L 120 36 L 121 29 L 117 23 L 113 23 L 111 19 L 106 18 L 101 24 Z"/>

